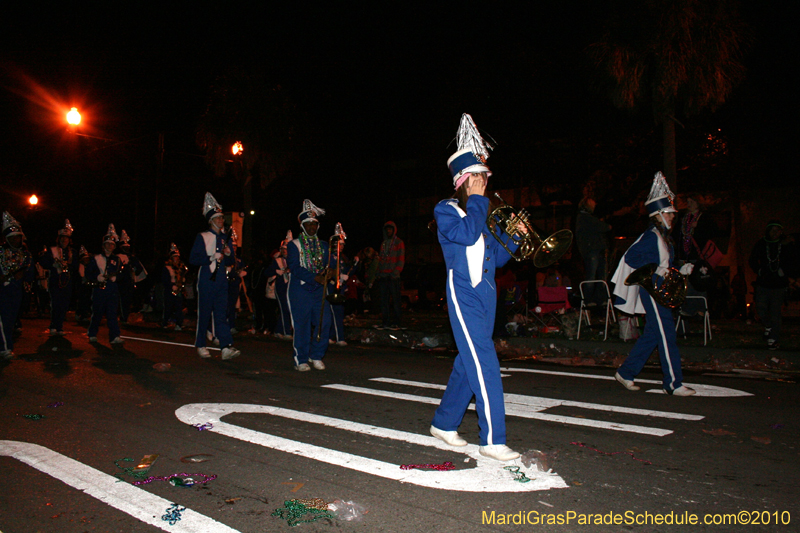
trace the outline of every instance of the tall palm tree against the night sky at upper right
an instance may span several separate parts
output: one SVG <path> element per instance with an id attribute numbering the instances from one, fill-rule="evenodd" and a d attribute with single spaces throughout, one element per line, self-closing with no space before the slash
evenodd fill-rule
<path id="1" fill-rule="evenodd" d="M 663 130 L 664 175 L 675 189 L 678 114 L 725 103 L 744 79 L 749 29 L 736 0 L 622 0 L 615 13 L 589 57 L 614 105 L 652 108 Z"/>

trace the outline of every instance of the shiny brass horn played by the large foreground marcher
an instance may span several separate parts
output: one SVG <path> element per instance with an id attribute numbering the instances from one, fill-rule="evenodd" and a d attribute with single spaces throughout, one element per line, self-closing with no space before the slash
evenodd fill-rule
<path id="1" fill-rule="evenodd" d="M 499 194 L 494 193 L 494 195 L 500 200 L 500 205 L 492 209 L 486 223 L 489 226 L 489 232 L 515 260 L 524 261 L 533 256 L 534 266 L 546 268 L 558 261 L 569 249 L 572 244 L 572 232 L 570 230 L 559 230 L 542 240 L 536 230 L 533 229 L 533 225 L 528 220 L 529 215 L 524 209 L 517 211 L 508 205 Z M 519 231 L 517 225 L 520 222 L 525 225 L 527 233 Z M 498 227 L 519 245 L 516 252 L 512 252 L 506 243 L 500 239 L 497 231 Z"/>

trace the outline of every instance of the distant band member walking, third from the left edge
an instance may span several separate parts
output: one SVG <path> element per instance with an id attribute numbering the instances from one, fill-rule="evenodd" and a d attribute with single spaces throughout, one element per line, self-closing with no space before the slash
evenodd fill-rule
<path id="1" fill-rule="evenodd" d="M 103 237 L 103 253 L 94 256 L 86 267 L 86 278 L 94 289 L 92 289 L 92 320 L 89 323 L 89 342 L 97 342 L 97 332 L 100 329 L 100 321 L 103 315 L 106 316 L 108 325 L 108 338 L 111 344 L 122 344 L 120 337 L 119 321 L 117 312 L 119 311 L 119 286 L 117 276 L 119 275 L 120 260 L 114 255 L 117 247 L 117 232 L 114 224 L 108 225 L 105 237 Z"/>

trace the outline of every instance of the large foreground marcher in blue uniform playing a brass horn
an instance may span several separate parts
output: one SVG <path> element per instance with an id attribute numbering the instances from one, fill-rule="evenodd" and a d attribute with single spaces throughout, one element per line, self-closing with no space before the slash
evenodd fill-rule
<path id="1" fill-rule="evenodd" d="M 451 446 L 466 446 L 457 429 L 474 396 L 481 455 L 511 461 L 519 453 L 506 446 L 503 383 L 492 341 L 497 305 L 494 273 L 511 256 L 491 236 L 486 224 L 489 199 L 484 192 L 491 175 L 487 157 L 487 146 L 472 117 L 464 114 L 458 151 L 447 162 L 456 198 L 442 200 L 434 209 L 447 266 L 447 309 L 458 356 L 430 431 Z M 513 241 L 506 235 L 502 238 L 512 251 L 516 250 Z"/>

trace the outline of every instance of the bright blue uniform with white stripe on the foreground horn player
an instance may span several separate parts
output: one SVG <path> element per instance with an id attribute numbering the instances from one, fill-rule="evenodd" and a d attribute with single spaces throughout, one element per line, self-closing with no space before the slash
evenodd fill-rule
<path id="1" fill-rule="evenodd" d="M 492 330 L 497 305 L 494 272 L 511 256 L 489 233 L 488 212 L 489 199 L 479 195 L 468 198 L 466 213 L 455 199 L 442 200 L 434 209 L 458 356 L 433 426 L 456 431 L 475 396 L 481 446 L 506 442 L 503 383 Z M 513 251 L 516 245 L 511 242 L 509 248 Z"/>

